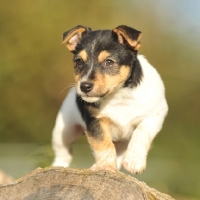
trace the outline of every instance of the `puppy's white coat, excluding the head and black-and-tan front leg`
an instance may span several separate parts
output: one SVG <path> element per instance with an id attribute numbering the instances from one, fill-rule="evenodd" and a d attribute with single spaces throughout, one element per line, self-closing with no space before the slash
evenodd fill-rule
<path id="1" fill-rule="evenodd" d="M 121 88 L 102 101 L 97 118 L 108 117 L 115 126 L 111 126 L 113 141 L 130 140 L 125 155 L 119 155 L 123 166 L 132 173 L 141 173 L 146 167 L 146 157 L 151 142 L 162 128 L 168 111 L 165 89 L 158 72 L 143 56 L 138 56 L 143 78 L 135 88 Z M 63 102 L 53 130 L 54 166 L 69 166 L 72 142 L 81 133 L 74 129 L 79 125 L 85 130 L 75 103 L 75 88 Z M 119 164 L 118 164 L 119 166 Z"/>

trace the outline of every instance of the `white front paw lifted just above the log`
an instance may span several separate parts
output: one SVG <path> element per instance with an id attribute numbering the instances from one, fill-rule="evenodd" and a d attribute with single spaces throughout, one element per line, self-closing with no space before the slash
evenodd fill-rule
<path id="1" fill-rule="evenodd" d="M 122 162 L 123 167 L 134 174 L 141 174 L 146 169 L 146 156 L 127 154 Z"/>

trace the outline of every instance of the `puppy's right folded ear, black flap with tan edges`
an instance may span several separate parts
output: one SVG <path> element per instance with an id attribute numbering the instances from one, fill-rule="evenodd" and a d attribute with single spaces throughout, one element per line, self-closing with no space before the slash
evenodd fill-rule
<path id="1" fill-rule="evenodd" d="M 138 50 L 140 48 L 141 44 L 139 40 L 142 37 L 142 33 L 140 31 L 121 25 L 113 29 L 113 32 L 117 34 L 119 43 L 126 44 L 134 50 Z"/>

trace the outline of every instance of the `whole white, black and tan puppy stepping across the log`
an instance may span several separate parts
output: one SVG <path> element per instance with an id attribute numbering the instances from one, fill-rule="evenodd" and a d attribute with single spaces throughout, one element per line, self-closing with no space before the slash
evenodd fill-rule
<path id="1" fill-rule="evenodd" d="M 63 34 L 62 44 L 74 54 L 76 85 L 53 130 L 54 166 L 70 165 L 72 143 L 85 132 L 96 160 L 92 170 L 146 168 L 168 106 L 158 72 L 138 55 L 140 38 L 140 31 L 124 25 L 98 31 L 76 26 Z"/>

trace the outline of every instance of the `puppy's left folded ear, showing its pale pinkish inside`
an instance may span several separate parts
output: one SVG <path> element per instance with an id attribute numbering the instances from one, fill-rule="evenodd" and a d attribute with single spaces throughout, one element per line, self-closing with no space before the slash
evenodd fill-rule
<path id="1" fill-rule="evenodd" d="M 62 44 L 66 44 L 67 48 L 73 52 L 76 48 L 76 45 L 83 37 L 83 35 L 89 31 L 91 31 L 91 28 L 81 26 L 81 25 L 76 26 L 70 29 L 69 31 L 66 31 L 63 33 Z"/>

